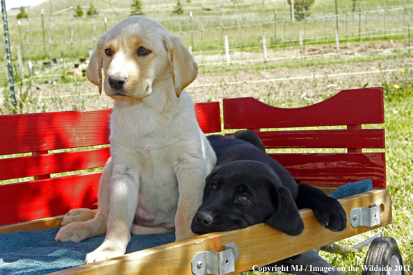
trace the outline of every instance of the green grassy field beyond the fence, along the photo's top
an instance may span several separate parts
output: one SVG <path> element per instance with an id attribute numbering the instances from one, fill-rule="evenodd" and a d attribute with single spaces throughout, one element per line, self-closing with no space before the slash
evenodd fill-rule
<path id="1" fill-rule="evenodd" d="M 15 12 L 9 12 L 10 41 L 13 51 L 20 47 L 20 32 L 24 56 L 33 60 L 68 58 L 77 61 L 88 57 L 88 47 L 95 47 L 95 41 L 108 28 L 129 16 L 130 1 L 116 1 L 113 9 L 107 3 L 95 3 L 100 10 L 97 17 L 72 17 L 74 11 L 56 13 L 63 8 L 60 1 L 42 3 L 28 10 L 29 19 L 22 19 L 17 25 Z M 156 1 L 158 2 L 158 1 Z M 386 1 L 384 12 L 382 1 L 361 2 L 362 15 L 353 17 L 353 1 L 338 1 L 338 25 L 335 19 L 334 0 L 316 1 L 307 20 L 291 22 L 289 5 L 286 1 L 192 1 L 184 3 L 186 12 L 173 15 L 171 6 L 159 6 L 144 1 L 145 16 L 156 19 L 170 33 L 179 35 L 187 46 L 192 45 L 195 54 L 202 51 L 222 49 L 224 35 L 229 35 L 229 46 L 249 49 L 261 44 L 265 31 L 267 42 L 286 42 L 298 46 L 298 33 L 308 44 L 330 44 L 335 42 L 334 28 L 339 27 L 341 42 L 375 42 L 380 40 L 406 40 L 407 25 L 413 17 L 412 1 Z M 73 0 L 76 6 L 81 1 Z M 84 3 L 81 3 L 84 4 Z M 210 8 L 209 11 L 204 8 Z M 394 10 L 394 8 L 403 8 Z M 40 17 L 44 8 L 44 17 Z M 189 17 L 189 11 L 193 17 Z M 366 12 L 373 13 L 366 13 Z M 277 11 L 277 15 L 275 15 Z M 49 13 L 50 12 L 50 13 Z M 359 12 L 358 6 L 355 12 Z M 384 20 L 385 17 L 385 20 Z M 106 24 L 104 19 L 106 18 Z M 241 26 L 242 25 L 242 26 Z M 223 26 L 223 28 L 222 28 Z M 43 36 L 44 29 L 44 36 Z M 384 32 L 384 29 L 391 31 Z M 362 34 L 359 35 L 358 33 Z M 241 35 L 242 33 L 242 35 Z M 49 43 L 49 39 L 50 42 Z M 73 42 L 73 43 L 72 43 Z M 16 58 L 14 52 L 13 57 Z M 2 58 L 2 56 L 0 56 Z"/>

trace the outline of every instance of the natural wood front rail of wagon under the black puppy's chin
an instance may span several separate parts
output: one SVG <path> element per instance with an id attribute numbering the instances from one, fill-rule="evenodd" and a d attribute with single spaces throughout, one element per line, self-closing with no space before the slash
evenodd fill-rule
<path id="1" fill-rule="evenodd" d="M 53 275 L 68 274 L 192 274 L 191 261 L 196 253 L 202 251 L 220 252 L 225 244 L 234 242 L 238 247 L 236 271 L 245 272 L 254 266 L 263 266 L 277 260 L 289 258 L 325 244 L 348 238 L 391 223 L 391 201 L 387 190 L 372 190 L 363 194 L 340 200 L 347 213 L 347 228 L 332 232 L 323 228 L 311 210 L 300 210 L 305 229 L 298 236 L 289 236 L 267 226 L 257 224 L 248 228 L 223 233 L 210 233 L 193 239 L 165 244 L 153 249 L 145 249 L 125 256 L 66 269 Z M 372 203 L 382 204 L 384 213 L 380 214 L 380 225 L 373 228 L 350 225 L 353 208 L 369 207 Z"/>

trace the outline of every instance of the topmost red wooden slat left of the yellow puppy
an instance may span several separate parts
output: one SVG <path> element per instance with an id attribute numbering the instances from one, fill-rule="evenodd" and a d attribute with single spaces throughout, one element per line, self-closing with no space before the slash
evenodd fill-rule
<path id="1" fill-rule="evenodd" d="M 0 116 L 0 155 L 108 144 L 111 110 Z"/>

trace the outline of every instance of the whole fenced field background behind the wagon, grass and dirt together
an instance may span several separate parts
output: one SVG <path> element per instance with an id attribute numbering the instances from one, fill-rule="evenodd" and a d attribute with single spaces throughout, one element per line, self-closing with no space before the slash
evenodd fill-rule
<path id="1" fill-rule="evenodd" d="M 104 99 L 88 103 L 98 94 L 84 72 L 99 35 L 132 14 L 155 19 L 193 53 L 196 101 L 411 82 L 413 0 L 305 1 L 144 0 L 137 10 L 132 0 L 48 0 L 24 19 L 10 10 L 17 101 L 25 112 L 106 108 Z M 10 107 L 3 64 L 0 100 Z"/>

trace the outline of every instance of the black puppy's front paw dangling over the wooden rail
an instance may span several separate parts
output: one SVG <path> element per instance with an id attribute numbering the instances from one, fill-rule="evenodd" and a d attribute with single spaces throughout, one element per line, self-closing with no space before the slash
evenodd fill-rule
<path id="1" fill-rule="evenodd" d="M 318 222 L 331 231 L 343 231 L 347 227 L 346 211 L 337 201 L 327 197 L 323 203 L 312 208 Z"/>

